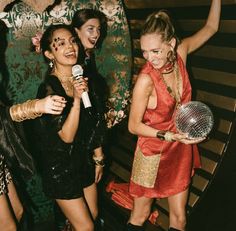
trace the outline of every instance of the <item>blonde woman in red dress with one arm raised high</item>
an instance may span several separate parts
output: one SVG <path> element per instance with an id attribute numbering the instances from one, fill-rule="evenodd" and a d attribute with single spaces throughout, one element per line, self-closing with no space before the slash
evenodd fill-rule
<path id="1" fill-rule="evenodd" d="M 185 230 L 188 188 L 194 168 L 200 167 L 196 144 L 179 134 L 174 116 L 179 105 L 191 100 L 186 71 L 187 55 L 218 30 L 221 1 L 212 0 L 205 26 L 179 43 L 168 14 L 151 14 L 142 29 L 140 44 L 147 63 L 134 90 L 129 131 L 138 135 L 130 193 L 134 196 L 127 230 L 144 230 L 154 198 L 168 198 L 169 230 Z"/>

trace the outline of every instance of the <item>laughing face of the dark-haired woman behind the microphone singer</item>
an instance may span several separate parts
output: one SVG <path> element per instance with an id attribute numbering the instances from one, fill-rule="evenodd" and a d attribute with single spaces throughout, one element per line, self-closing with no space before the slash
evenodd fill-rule
<path id="1" fill-rule="evenodd" d="M 97 18 L 91 18 L 75 30 L 84 48 L 93 49 L 100 37 L 101 26 Z"/>

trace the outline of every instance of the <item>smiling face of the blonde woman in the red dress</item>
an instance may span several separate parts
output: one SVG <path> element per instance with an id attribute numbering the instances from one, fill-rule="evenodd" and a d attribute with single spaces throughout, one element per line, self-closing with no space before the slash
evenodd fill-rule
<path id="1" fill-rule="evenodd" d="M 170 42 L 163 42 L 161 35 L 157 33 L 145 34 L 140 38 L 140 46 L 143 57 L 155 69 L 161 69 L 168 62 L 167 54 L 175 46 L 175 39 Z"/>

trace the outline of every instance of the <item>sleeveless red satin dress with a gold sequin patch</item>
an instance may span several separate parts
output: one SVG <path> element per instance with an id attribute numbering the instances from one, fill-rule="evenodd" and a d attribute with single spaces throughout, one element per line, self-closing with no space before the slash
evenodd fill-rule
<path id="1" fill-rule="evenodd" d="M 180 103 L 184 104 L 191 100 L 191 85 L 186 67 L 180 56 L 178 56 L 177 63 L 179 78 L 183 86 Z M 176 100 L 167 91 L 161 73 L 155 70 L 149 62 L 144 65 L 141 73 L 151 76 L 157 94 L 157 106 L 155 109 L 145 111 L 143 122 L 158 130 L 175 132 Z M 141 157 L 139 151 L 142 153 Z M 159 156 L 158 160 L 156 156 Z M 134 197 L 169 197 L 187 189 L 194 168 L 199 167 L 200 157 L 196 145 L 139 136 L 129 192 Z M 149 182 L 151 183 L 149 184 Z"/>

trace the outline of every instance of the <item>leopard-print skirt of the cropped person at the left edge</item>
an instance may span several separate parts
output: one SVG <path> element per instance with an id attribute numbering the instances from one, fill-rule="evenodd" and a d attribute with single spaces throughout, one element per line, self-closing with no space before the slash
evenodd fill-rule
<path id="1" fill-rule="evenodd" d="M 7 185 L 11 181 L 11 174 L 4 162 L 4 156 L 0 154 L 0 195 L 8 192 Z"/>

